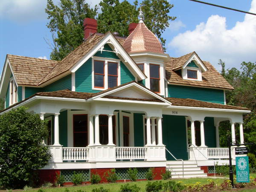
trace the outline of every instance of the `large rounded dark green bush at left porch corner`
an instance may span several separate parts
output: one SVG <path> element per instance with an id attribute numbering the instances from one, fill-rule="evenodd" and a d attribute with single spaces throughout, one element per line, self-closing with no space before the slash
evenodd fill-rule
<path id="1" fill-rule="evenodd" d="M 0 116 L 0 186 L 22 188 L 47 166 L 51 154 L 41 145 L 47 135 L 47 121 L 24 107 Z"/>

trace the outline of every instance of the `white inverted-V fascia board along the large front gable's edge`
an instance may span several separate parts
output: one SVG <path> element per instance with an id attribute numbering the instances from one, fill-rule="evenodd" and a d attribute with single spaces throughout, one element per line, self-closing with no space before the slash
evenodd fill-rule
<path id="1" fill-rule="evenodd" d="M 102 38 L 99 43 L 93 47 L 86 55 L 84 55 L 83 58 L 80 59 L 71 69 L 70 71 L 72 73 L 76 72 L 76 70 L 79 69 L 79 67 L 82 66 L 89 58 L 91 58 L 99 49 L 108 43 L 108 41 L 111 41 L 111 43 L 118 49 L 120 55 L 125 59 L 125 61 L 128 62 L 128 64 L 132 65 L 131 69 L 133 70 L 132 72 L 137 74 L 137 76 L 140 77 L 140 79 L 146 79 L 147 77 L 145 74 L 140 70 L 140 68 L 137 66 L 137 64 L 133 61 L 133 59 L 128 55 L 128 53 L 123 49 L 123 47 L 119 44 L 119 42 L 116 40 L 116 38 L 109 32 L 104 38 Z"/>

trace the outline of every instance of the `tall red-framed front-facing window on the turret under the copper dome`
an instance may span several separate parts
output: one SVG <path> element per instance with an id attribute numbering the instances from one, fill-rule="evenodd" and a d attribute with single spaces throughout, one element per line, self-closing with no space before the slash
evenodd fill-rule
<path id="1" fill-rule="evenodd" d="M 160 93 L 160 66 L 149 64 L 150 70 L 150 89 L 156 93 Z"/>

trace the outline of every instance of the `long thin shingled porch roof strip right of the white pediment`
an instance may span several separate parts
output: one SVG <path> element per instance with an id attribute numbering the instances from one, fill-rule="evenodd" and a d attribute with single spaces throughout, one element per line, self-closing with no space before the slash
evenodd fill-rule
<path id="1" fill-rule="evenodd" d="M 181 98 L 174 98 L 174 97 L 167 97 L 167 100 L 172 102 L 174 106 L 185 106 L 185 107 L 198 107 L 198 108 L 217 108 L 217 109 L 236 109 L 236 110 L 250 110 L 248 108 L 242 108 L 232 105 L 222 105 L 217 103 L 211 102 L 203 102 L 198 101 L 195 99 L 181 99 Z"/>

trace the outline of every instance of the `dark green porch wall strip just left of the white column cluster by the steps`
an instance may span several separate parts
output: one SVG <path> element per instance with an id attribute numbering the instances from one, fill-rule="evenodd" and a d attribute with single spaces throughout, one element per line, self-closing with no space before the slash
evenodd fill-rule
<path id="1" fill-rule="evenodd" d="M 143 114 L 134 113 L 134 146 L 144 146 L 143 140 Z"/>

